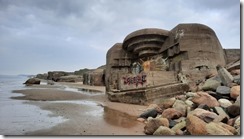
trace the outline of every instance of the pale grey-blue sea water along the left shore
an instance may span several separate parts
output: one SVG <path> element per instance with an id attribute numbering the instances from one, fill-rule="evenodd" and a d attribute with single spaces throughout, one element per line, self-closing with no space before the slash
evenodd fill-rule
<path id="1" fill-rule="evenodd" d="M 63 117 L 50 117 L 50 111 L 26 104 L 25 100 L 10 97 L 21 96 L 13 90 L 26 89 L 27 76 L 0 75 L 0 134 L 24 135 L 26 132 L 51 128 L 65 121 Z"/>

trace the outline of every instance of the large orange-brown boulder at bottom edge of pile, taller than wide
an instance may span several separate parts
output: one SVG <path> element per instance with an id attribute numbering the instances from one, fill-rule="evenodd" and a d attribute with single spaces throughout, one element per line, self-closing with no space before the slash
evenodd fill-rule
<path id="1" fill-rule="evenodd" d="M 207 135 L 206 123 L 194 115 L 187 115 L 186 129 L 191 135 Z"/>

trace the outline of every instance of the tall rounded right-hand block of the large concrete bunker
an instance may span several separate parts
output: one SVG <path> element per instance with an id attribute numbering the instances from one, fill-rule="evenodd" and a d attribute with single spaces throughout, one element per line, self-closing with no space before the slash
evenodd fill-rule
<path id="1" fill-rule="evenodd" d="M 179 24 L 170 31 L 160 53 L 169 57 L 169 70 L 183 73 L 188 82 L 216 74 L 217 65 L 226 65 L 224 50 L 215 32 L 202 24 Z"/>

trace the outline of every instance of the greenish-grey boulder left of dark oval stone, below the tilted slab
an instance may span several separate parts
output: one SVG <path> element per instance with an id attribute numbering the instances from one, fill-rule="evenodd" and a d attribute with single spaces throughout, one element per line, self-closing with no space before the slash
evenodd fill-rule
<path id="1" fill-rule="evenodd" d="M 216 81 L 212 78 L 205 81 L 203 86 L 201 87 L 204 91 L 216 91 L 217 87 L 220 86 L 221 83 L 219 81 Z"/>

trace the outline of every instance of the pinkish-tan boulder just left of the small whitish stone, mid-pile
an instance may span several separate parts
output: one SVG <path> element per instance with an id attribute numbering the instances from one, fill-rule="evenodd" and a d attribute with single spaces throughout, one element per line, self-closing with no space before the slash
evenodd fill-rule
<path id="1" fill-rule="evenodd" d="M 200 105 L 205 104 L 209 107 L 219 106 L 219 102 L 216 98 L 212 97 L 206 92 L 197 92 L 197 95 L 192 98 L 192 102 Z"/>

